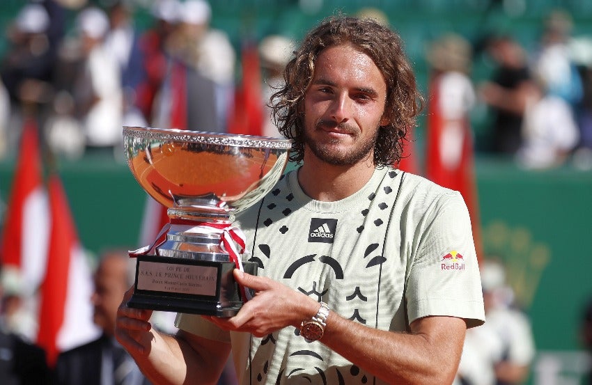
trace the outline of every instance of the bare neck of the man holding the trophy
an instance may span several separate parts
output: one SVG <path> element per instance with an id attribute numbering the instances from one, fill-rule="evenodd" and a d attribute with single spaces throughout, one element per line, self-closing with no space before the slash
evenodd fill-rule
<path id="1" fill-rule="evenodd" d="M 355 194 L 372 178 L 371 160 L 350 166 L 334 166 L 318 159 L 305 159 L 298 182 L 306 195 L 317 201 L 334 202 Z"/>

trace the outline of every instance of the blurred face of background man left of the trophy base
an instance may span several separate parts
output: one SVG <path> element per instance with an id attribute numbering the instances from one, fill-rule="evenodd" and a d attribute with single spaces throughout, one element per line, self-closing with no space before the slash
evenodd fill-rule
<path id="1" fill-rule="evenodd" d="M 125 260 L 102 260 L 95 274 L 95 292 L 91 297 L 94 307 L 93 322 L 109 335 L 113 335 L 117 308 L 127 290 Z"/>

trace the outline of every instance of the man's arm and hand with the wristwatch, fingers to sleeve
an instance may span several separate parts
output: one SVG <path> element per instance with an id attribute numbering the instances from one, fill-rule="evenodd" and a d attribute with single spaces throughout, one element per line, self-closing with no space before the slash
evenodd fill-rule
<path id="1" fill-rule="evenodd" d="M 269 278 L 237 270 L 235 278 L 254 288 L 256 296 L 235 317 L 210 318 L 223 329 L 265 336 L 284 327 L 299 328 L 302 320 L 318 311 L 317 301 Z M 440 385 L 453 381 L 465 330 L 465 321 L 460 318 L 424 317 L 412 322 L 410 333 L 394 333 L 331 312 L 320 342 L 387 382 Z"/>

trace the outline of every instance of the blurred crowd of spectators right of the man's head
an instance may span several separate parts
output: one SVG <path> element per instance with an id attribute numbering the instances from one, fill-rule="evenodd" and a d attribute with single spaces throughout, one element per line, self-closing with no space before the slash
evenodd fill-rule
<path id="1" fill-rule="evenodd" d="M 511 157 L 525 168 L 550 168 L 567 160 L 592 168 L 592 40 L 573 38 L 571 31 L 569 13 L 553 10 L 535 42 L 497 32 L 473 42 L 456 33 L 433 41 L 426 56 L 430 88 L 442 88 L 437 103 L 444 120 L 470 117 L 476 107 L 485 107 L 490 118 L 478 152 Z M 477 57 L 485 59 L 490 79 L 472 77 Z M 429 102 L 435 104 L 431 91 Z M 453 134 L 446 138 L 458 142 Z"/>

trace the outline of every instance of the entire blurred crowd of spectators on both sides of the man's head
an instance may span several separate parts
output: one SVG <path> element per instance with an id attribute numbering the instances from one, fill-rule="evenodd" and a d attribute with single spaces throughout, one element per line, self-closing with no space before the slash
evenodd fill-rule
<path id="1" fill-rule="evenodd" d="M 131 1 L 74 1 L 77 8 L 68 3 L 31 1 L 7 27 L 0 157 L 13 155 L 22 121 L 31 117 L 47 148 L 71 159 L 88 152 L 123 156 L 122 125 L 228 130 L 240 81 L 237 46 L 243 42 L 210 26 L 208 1 L 148 2 L 150 25 L 143 29 L 135 24 Z M 389 22 L 377 9 L 359 13 Z M 472 116 L 478 107 L 489 112 L 478 152 L 513 157 L 527 168 L 568 159 L 592 168 L 592 38 L 572 36 L 572 30 L 570 14 L 556 10 L 542 22 L 539 40 L 527 44 L 501 33 L 450 33 L 430 42 L 430 68 L 467 80 L 453 92 L 455 102 L 442 99 L 443 113 Z M 294 42 L 281 35 L 258 40 L 260 107 L 266 111 Z M 492 68 L 488 81 L 474 81 L 477 55 Z M 277 135 L 267 116 L 260 133 Z"/>

